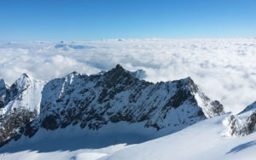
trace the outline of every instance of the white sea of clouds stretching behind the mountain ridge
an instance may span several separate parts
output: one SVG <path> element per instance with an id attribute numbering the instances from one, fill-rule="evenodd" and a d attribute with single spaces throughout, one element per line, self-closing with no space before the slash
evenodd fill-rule
<path id="1" fill-rule="evenodd" d="M 95 74 L 116 64 L 143 69 L 151 82 L 192 77 L 226 111 L 256 100 L 256 39 L 113 39 L 89 42 L 2 42 L 0 78 L 23 72 L 48 81 L 78 71 Z"/>

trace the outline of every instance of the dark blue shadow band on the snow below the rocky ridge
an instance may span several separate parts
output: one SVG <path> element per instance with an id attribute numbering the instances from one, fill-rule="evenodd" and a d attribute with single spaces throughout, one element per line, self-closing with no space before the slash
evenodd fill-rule
<path id="1" fill-rule="evenodd" d="M 90 137 L 73 137 L 73 138 L 50 138 L 37 140 L 34 142 L 17 143 L 11 142 L 11 146 L 0 148 L 1 153 L 15 153 L 19 151 L 76 151 L 79 149 L 100 149 L 118 144 L 138 144 L 150 140 L 139 134 L 105 134 L 102 136 L 95 135 Z"/>

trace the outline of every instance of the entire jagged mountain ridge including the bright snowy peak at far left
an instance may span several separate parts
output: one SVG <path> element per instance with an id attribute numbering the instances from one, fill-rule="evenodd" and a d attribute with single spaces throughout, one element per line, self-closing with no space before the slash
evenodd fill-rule
<path id="1" fill-rule="evenodd" d="M 136 75 L 117 65 L 91 76 L 73 72 L 46 84 L 26 74 L 10 88 L 2 81 L 1 146 L 32 137 L 39 129 L 100 130 L 121 122 L 127 125 L 120 129 L 139 123 L 157 137 L 224 114 L 223 106 L 203 94 L 190 77 L 148 83 Z"/>

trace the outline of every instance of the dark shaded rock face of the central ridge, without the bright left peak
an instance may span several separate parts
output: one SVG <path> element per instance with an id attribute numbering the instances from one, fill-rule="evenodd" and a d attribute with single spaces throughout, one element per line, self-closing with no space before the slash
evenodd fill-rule
<path id="1" fill-rule="evenodd" d="M 102 74 L 73 72 L 46 83 L 40 114 L 12 127 L 20 130 L 11 139 L 19 139 L 21 134 L 32 137 L 40 128 L 55 130 L 76 124 L 98 130 L 108 123 L 143 123 L 144 128 L 177 131 L 223 113 L 223 106 L 207 98 L 190 77 L 148 83 L 117 65 Z"/>

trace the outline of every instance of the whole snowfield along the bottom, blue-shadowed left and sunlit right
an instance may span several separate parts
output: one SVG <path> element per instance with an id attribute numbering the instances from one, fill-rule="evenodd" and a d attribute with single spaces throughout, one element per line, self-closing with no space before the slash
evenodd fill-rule
<path id="1" fill-rule="evenodd" d="M 112 134 L 112 136 L 105 134 L 97 138 L 96 136 L 87 138 L 84 136 L 84 138 L 77 137 L 75 139 L 66 137 L 65 140 L 45 138 L 37 143 L 5 147 L 0 151 L 0 158 L 6 160 L 91 160 L 98 158 L 101 160 L 254 160 L 256 157 L 256 132 L 247 136 L 228 136 L 228 129 L 224 122 L 229 116 L 229 114 L 225 114 L 212 117 L 177 133 L 137 145 L 125 146 L 124 141 L 133 140 L 133 143 L 140 143 L 139 140 L 143 140 L 143 137 L 139 137 L 138 134 Z M 73 129 L 74 134 L 75 130 Z M 55 137 L 58 135 L 55 134 Z M 119 145 L 109 145 L 111 140 L 116 140 Z"/>

